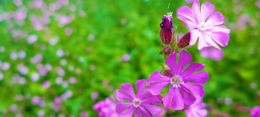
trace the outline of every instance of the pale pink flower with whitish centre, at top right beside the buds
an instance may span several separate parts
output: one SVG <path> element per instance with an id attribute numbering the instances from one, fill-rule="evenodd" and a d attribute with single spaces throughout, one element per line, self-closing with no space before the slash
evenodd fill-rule
<path id="1" fill-rule="evenodd" d="M 218 44 L 227 46 L 230 32 L 225 26 L 219 26 L 224 23 L 223 15 L 214 12 L 215 7 L 212 4 L 202 4 L 201 10 L 199 6 L 199 1 L 195 0 L 191 9 L 183 6 L 177 12 L 178 18 L 190 29 L 190 45 L 194 45 L 199 38 L 199 50 L 210 46 L 221 50 Z"/>

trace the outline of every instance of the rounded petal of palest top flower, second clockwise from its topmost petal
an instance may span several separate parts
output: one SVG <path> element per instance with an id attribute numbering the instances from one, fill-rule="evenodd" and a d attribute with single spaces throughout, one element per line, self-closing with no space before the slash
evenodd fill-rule
<path id="1" fill-rule="evenodd" d="M 224 17 L 220 12 L 214 12 L 209 16 L 209 19 L 206 21 L 206 26 L 216 26 L 224 23 Z"/>

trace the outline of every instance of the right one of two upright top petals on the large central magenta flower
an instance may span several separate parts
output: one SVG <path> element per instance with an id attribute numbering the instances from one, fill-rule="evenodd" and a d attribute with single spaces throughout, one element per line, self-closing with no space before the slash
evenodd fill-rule
<path id="1" fill-rule="evenodd" d="M 177 64 L 177 75 L 180 75 L 180 73 L 182 73 L 183 68 L 191 61 L 192 56 L 186 50 L 180 51 L 180 57 Z"/>

